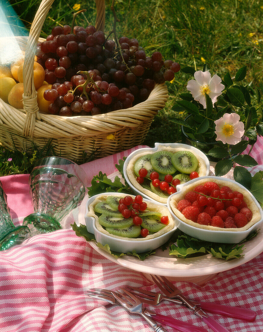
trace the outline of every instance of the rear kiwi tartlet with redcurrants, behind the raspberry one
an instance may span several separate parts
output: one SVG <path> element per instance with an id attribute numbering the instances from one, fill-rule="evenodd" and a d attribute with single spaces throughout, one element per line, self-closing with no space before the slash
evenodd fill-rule
<path id="1" fill-rule="evenodd" d="M 126 169 L 129 181 L 138 191 L 163 204 L 176 192 L 177 185 L 209 172 L 209 162 L 200 151 L 185 144 L 174 145 L 178 147 L 159 145 L 157 151 L 136 154 Z"/>

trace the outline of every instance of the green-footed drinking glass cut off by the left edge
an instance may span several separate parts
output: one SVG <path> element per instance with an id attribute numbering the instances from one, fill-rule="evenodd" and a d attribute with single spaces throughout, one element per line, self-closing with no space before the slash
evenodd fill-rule
<path id="1" fill-rule="evenodd" d="M 6 250 L 16 244 L 22 243 L 30 235 L 27 226 L 15 226 L 7 205 L 6 193 L 0 181 L 0 250 Z"/>

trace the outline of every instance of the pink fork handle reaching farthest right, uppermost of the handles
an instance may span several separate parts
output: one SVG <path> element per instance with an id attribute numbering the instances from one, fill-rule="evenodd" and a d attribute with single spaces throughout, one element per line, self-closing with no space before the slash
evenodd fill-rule
<path id="1" fill-rule="evenodd" d="M 216 313 L 219 315 L 246 320 L 253 322 L 256 319 L 256 313 L 253 310 L 243 309 L 239 307 L 232 307 L 230 305 L 215 304 L 209 302 L 200 302 L 203 310 Z"/>

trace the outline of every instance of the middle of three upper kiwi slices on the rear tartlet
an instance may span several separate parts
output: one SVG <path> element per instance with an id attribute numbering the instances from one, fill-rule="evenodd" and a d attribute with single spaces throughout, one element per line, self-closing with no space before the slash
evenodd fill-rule
<path id="1" fill-rule="evenodd" d="M 151 163 L 153 169 L 159 174 L 173 174 L 176 169 L 172 164 L 173 153 L 168 151 L 158 151 L 152 154 Z"/>

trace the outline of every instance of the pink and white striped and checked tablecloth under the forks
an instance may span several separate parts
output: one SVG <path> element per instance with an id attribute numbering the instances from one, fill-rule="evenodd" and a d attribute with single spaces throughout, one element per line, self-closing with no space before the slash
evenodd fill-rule
<path id="1" fill-rule="evenodd" d="M 118 159 L 140 147 L 82 165 L 88 179 L 91 181 L 100 170 L 107 175 L 116 171 L 114 165 Z M 260 164 L 263 164 L 262 147 L 263 139 L 259 137 L 251 156 Z M 22 224 L 23 217 L 33 211 L 28 175 L 0 180 L 13 221 L 15 225 Z M 117 290 L 130 285 L 158 289 L 140 273 L 109 261 L 84 238 L 77 237 L 70 227 L 77 218 L 77 212 L 73 211 L 64 229 L 37 235 L 0 252 L 0 332 L 153 331 L 144 320 L 122 307 L 105 305 L 85 295 L 85 290 L 93 287 Z M 252 323 L 213 315 L 230 332 L 263 331 L 263 253 L 246 264 L 219 273 L 204 286 L 186 282 L 177 282 L 176 286 L 190 298 L 219 301 L 257 312 Z M 187 308 L 168 302 L 149 308 L 212 331 Z M 175 331 L 169 327 L 166 330 Z"/>

